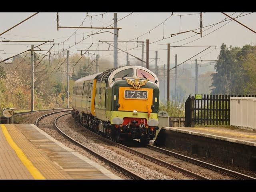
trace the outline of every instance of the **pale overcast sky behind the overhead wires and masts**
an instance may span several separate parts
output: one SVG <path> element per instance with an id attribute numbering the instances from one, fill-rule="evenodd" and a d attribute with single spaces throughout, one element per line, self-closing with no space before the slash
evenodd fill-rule
<path id="1" fill-rule="evenodd" d="M 32 15 L 33 13 L 0 13 L 0 33 L 4 32 L 8 28 L 14 26 L 18 22 L 24 20 L 28 16 Z M 96 14 L 103 14 L 103 13 L 88 13 L 88 15 L 96 15 Z M 128 15 L 128 12 L 118 12 L 118 20 L 123 18 L 124 16 Z M 137 38 L 138 36 L 148 32 L 149 30 L 156 27 L 158 24 L 162 23 L 166 20 L 172 13 L 132 13 L 130 16 L 122 19 L 118 22 L 118 27 L 122 29 L 119 31 L 119 41 L 126 41 L 131 40 L 133 38 Z M 167 63 L 167 48 L 166 43 L 170 43 L 170 46 L 178 46 L 182 44 L 186 44 L 192 40 L 196 40 L 200 38 L 199 34 L 194 32 L 187 32 L 184 34 L 179 34 L 177 36 L 170 37 L 170 34 L 175 34 L 178 32 L 184 32 L 187 30 L 194 30 L 199 28 L 200 26 L 200 14 L 194 14 L 189 16 L 177 16 L 183 14 L 193 14 L 193 13 L 174 13 L 168 20 L 164 22 L 164 25 L 161 24 L 154 30 L 150 32 L 150 34 L 145 34 L 138 38 L 139 41 L 146 41 L 149 39 L 149 42 L 154 42 L 156 40 L 160 40 L 156 43 L 150 44 L 150 58 L 155 57 L 155 50 L 158 50 L 158 58 L 159 64 L 166 64 Z M 232 15 L 232 17 L 236 17 L 239 14 L 248 14 L 248 13 L 226 13 L 228 15 Z M 60 26 L 80 26 L 84 18 L 86 17 L 86 13 L 59 13 Z M 237 18 L 238 21 L 242 22 L 249 28 L 256 30 L 256 14 L 248 14 L 246 16 L 242 16 Z M 203 13 L 202 14 L 202 23 L 203 26 L 208 26 L 210 24 L 214 24 L 220 22 L 225 19 L 226 16 L 222 13 Z M 103 22 L 104 27 L 113 24 L 113 13 L 106 13 L 103 15 Z M 228 20 L 228 18 L 227 18 Z M 91 17 L 87 16 L 84 21 L 84 26 L 90 26 L 92 22 L 93 27 L 102 27 L 102 15 L 93 16 L 92 20 Z M 218 53 L 220 51 L 220 46 L 222 43 L 226 44 L 227 46 L 243 46 L 245 44 L 255 44 L 256 41 L 256 34 L 248 30 L 247 28 L 241 26 L 235 21 L 226 21 L 222 22 L 208 30 L 207 28 L 203 28 L 203 37 L 188 43 L 186 45 L 216 45 L 217 48 L 209 48 L 205 52 L 202 52 L 195 58 L 202 57 L 203 59 L 217 59 Z M 228 23 L 228 24 L 226 24 Z M 219 28 L 220 26 L 226 24 L 225 26 Z M 218 30 L 214 31 L 215 29 L 219 28 Z M 204 32 L 204 30 L 206 30 Z M 26 22 L 20 24 L 19 26 L 15 27 L 14 29 L 8 31 L 6 34 L 2 35 L 0 40 L 54 40 L 54 48 L 53 50 L 58 51 L 58 48 L 63 49 L 62 42 L 66 40 L 75 29 L 67 29 L 67 28 L 60 28 L 57 31 L 57 24 L 56 24 L 56 13 L 39 13 L 36 16 L 30 18 Z M 78 43 L 83 39 L 83 32 L 84 38 L 87 38 L 87 34 L 91 34 L 91 29 L 79 29 L 76 32 L 76 36 L 72 36 L 70 38 L 69 44 L 68 40 L 64 42 L 64 49 L 68 48 L 68 46 L 74 45 L 74 42 Z M 94 30 L 97 32 L 98 30 Z M 107 31 L 107 30 L 105 30 Z M 110 32 L 114 32 L 114 30 L 108 30 Z M 212 32 L 214 31 L 214 32 Z M 199 32 L 199 30 L 196 30 Z M 208 34 L 209 32 L 212 32 Z M 206 35 L 208 34 L 208 35 Z M 191 38 L 188 38 L 192 35 L 195 35 Z M 206 35 L 206 36 L 205 36 Z M 76 44 L 72 48 L 70 48 L 70 54 L 79 53 L 77 49 L 86 49 L 90 46 L 93 42 L 91 49 L 108 49 L 108 45 L 106 44 L 98 44 L 99 40 L 102 41 L 113 41 L 113 34 L 111 33 L 102 33 L 102 34 L 95 34 L 90 36 L 90 38 L 84 39 L 80 44 Z M 167 39 L 161 40 L 167 37 Z M 5 38 L 5 39 L 3 39 Z M 186 40 L 182 40 L 184 38 L 188 38 Z M 135 39 L 136 41 L 137 39 Z M 176 42 L 178 40 L 182 40 Z M 175 43 L 174 43 L 175 42 Z M 61 43 L 58 45 L 58 43 Z M 34 43 L 34 45 L 38 45 L 40 43 Z M 139 58 L 142 56 L 142 49 L 141 43 L 119 43 L 118 47 L 120 49 L 126 50 L 126 48 L 135 48 L 133 50 L 129 50 L 130 54 L 133 54 Z M 26 49 L 31 47 L 31 43 L 16 43 L 10 42 L 0 43 L 0 60 L 4 58 L 8 58 L 14 54 L 18 54 L 19 52 L 23 52 Z M 43 45 L 41 48 L 47 49 L 49 45 Z M 110 48 L 112 49 L 112 48 Z M 174 66 L 174 55 L 178 55 L 178 64 L 187 60 L 191 56 L 197 54 L 198 52 L 204 50 L 204 47 L 187 47 L 187 48 L 173 48 L 170 50 L 170 63 L 171 66 Z M 211 51 L 212 50 L 212 51 Z M 144 47 L 144 59 L 146 60 L 146 46 Z M 211 52 L 210 52 L 211 51 Z M 108 58 L 109 60 L 113 60 L 113 52 L 92 52 L 100 54 L 101 58 Z M 207 54 L 208 53 L 208 54 Z M 108 54 L 111 54 L 107 56 Z M 205 55 L 206 54 L 206 55 Z M 205 55 L 205 56 L 203 56 Z M 129 58 L 132 58 L 129 56 Z M 201 59 L 202 59 L 201 58 Z M 131 60 L 132 61 L 132 60 Z M 150 59 L 151 61 L 151 59 Z M 189 61 L 191 63 L 191 61 Z M 118 53 L 118 64 L 126 64 L 126 54 L 125 53 Z M 150 65 L 154 65 L 154 62 L 151 62 Z M 182 68 L 182 65 L 180 66 Z M 213 68 L 213 66 L 212 66 Z"/>

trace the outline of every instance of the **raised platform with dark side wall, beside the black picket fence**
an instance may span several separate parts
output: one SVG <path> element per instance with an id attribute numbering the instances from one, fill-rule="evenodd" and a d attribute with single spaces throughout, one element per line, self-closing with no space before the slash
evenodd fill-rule
<path id="1" fill-rule="evenodd" d="M 256 170 L 256 132 L 232 127 L 162 127 L 156 146 Z"/>

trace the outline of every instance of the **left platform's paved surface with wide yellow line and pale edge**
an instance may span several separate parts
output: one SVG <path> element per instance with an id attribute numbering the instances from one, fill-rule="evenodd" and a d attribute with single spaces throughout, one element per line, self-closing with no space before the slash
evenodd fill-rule
<path id="1" fill-rule="evenodd" d="M 34 124 L 1 124 L 0 179 L 121 178 Z"/>

